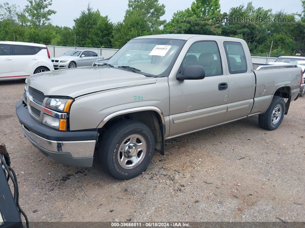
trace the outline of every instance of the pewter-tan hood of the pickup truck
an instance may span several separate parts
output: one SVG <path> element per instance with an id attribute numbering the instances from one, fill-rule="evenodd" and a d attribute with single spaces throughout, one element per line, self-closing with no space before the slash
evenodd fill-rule
<path id="1" fill-rule="evenodd" d="M 77 97 L 88 93 L 156 83 L 156 78 L 111 67 L 82 67 L 48 71 L 27 78 L 29 86 L 46 96 Z"/>

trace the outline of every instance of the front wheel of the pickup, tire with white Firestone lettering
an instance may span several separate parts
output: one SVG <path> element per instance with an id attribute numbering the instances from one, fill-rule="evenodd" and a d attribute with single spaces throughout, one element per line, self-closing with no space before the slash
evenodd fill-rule
<path id="1" fill-rule="evenodd" d="M 148 126 L 140 121 L 120 121 L 104 133 L 99 162 L 114 178 L 128 180 L 146 170 L 154 151 L 155 139 Z"/>

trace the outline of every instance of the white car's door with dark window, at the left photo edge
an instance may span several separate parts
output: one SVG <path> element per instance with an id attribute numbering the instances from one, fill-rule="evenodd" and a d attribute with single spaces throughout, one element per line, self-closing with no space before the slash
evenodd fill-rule
<path id="1" fill-rule="evenodd" d="M 0 79 L 15 77 L 12 45 L 0 44 Z"/>

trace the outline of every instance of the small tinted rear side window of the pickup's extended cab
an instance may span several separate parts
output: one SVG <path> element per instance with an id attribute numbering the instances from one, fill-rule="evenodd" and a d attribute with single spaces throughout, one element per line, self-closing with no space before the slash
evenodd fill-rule
<path id="1" fill-rule="evenodd" d="M 248 70 L 246 54 L 239 42 L 224 41 L 230 74 L 245 73 Z"/>

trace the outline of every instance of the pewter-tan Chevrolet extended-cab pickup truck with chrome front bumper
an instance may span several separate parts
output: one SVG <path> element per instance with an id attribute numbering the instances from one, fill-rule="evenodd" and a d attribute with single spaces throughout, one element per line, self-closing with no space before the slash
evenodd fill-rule
<path id="1" fill-rule="evenodd" d="M 164 154 L 166 139 L 253 115 L 275 130 L 302 76 L 293 64 L 253 65 L 242 39 L 151 35 L 101 66 L 28 77 L 16 113 L 53 161 L 91 167 L 97 153 L 107 173 L 125 180 L 144 172 L 155 151 Z"/>

